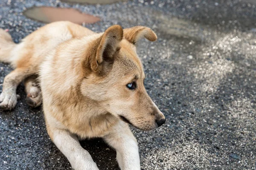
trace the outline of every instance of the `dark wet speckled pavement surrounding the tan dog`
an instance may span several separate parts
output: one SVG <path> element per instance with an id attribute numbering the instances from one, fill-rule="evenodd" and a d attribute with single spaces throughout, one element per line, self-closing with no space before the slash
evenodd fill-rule
<path id="1" fill-rule="evenodd" d="M 0 27 L 15 42 L 44 23 L 22 15 L 32 6 L 75 8 L 101 21 L 83 24 L 104 31 L 152 28 L 156 42 L 141 40 L 148 94 L 166 123 L 143 132 L 132 127 L 144 170 L 255 170 L 256 1 L 130 0 L 79 5 L 59 0 L 2 0 Z M 0 64 L 0 83 L 12 68 Z M 21 99 L 0 111 L 0 169 L 66 170 L 67 159 L 47 135 L 41 108 Z M 101 139 L 82 141 L 100 170 L 118 170 L 115 151 Z"/>

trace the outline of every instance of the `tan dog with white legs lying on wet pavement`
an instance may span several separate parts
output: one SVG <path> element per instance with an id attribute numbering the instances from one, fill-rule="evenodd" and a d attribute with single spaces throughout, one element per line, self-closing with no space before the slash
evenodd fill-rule
<path id="1" fill-rule="evenodd" d="M 75 170 L 98 170 L 78 137 L 102 137 L 116 149 L 121 170 L 140 170 L 137 141 L 128 124 L 151 130 L 166 120 L 143 85 L 135 47 L 141 37 L 157 40 L 143 26 L 116 25 L 96 34 L 56 22 L 16 45 L 0 30 L 0 60 L 15 67 L 4 79 L 0 107 L 15 107 L 16 88 L 24 80 L 29 105 L 40 105 L 42 94 L 47 132 Z M 41 91 L 35 82 L 38 71 Z"/>

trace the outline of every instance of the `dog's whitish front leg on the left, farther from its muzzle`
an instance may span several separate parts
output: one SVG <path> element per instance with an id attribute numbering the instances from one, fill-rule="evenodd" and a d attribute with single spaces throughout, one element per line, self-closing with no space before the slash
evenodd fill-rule
<path id="1" fill-rule="evenodd" d="M 48 123 L 47 132 L 74 170 L 99 170 L 90 153 L 81 147 L 74 134 L 67 130 L 51 128 Z"/>

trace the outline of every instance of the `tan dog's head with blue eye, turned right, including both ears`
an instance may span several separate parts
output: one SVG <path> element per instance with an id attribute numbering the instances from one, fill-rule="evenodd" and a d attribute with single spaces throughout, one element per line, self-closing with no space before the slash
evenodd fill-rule
<path id="1" fill-rule="evenodd" d="M 136 53 L 136 43 L 142 37 L 157 40 L 156 34 L 143 26 L 122 29 L 116 25 L 96 35 L 87 48 L 85 72 L 90 74 L 82 81 L 81 92 L 134 127 L 152 130 L 166 119 L 143 85 L 145 74 Z"/>

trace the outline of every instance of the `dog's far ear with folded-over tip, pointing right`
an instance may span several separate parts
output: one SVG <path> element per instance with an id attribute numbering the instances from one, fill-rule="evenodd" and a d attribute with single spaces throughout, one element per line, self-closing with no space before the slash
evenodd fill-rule
<path id="1" fill-rule="evenodd" d="M 131 28 L 124 29 L 124 37 L 126 40 L 132 44 L 136 44 L 140 38 L 145 37 L 149 41 L 157 40 L 157 35 L 148 27 L 144 26 L 135 26 Z"/>

